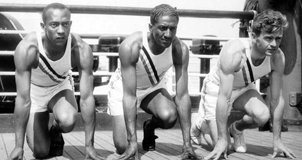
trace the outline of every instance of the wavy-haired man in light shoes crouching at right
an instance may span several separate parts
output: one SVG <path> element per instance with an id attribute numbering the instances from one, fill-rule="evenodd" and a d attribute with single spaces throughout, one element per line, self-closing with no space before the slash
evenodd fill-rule
<path id="1" fill-rule="evenodd" d="M 201 130 L 208 145 L 214 148 L 206 160 L 212 157 L 217 160 L 223 152 L 227 158 L 229 135 L 234 138 L 234 150 L 245 153 L 243 130 L 264 125 L 269 116 L 273 123 L 272 157 L 276 157 L 278 151 L 284 156 L 296 157 L 281 141 L 285 62 L 279 46 L 287 26 L 285 16 L 267 10 L 254 18 L 250 39 L 230 40 L 222 48 L 217 64 L 204 80 L 199 115 L 192 119 L 191 139 L 198 143 L 196 136 Z M 270 78 L 270 111 L 254 84 L 267 74 Z M 227 117 L 232 107 L 247 114 L 227 129 Z"/>

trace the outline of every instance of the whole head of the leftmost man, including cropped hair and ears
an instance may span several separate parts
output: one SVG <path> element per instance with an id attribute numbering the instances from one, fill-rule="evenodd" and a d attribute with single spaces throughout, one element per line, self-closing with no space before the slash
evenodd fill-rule
<path id="1" fill-rule="evenodd" d="M 40 25 L 52 43 L 58 46 L 66 43 L 72 24 L 70 17 L 69 9 L 61 3 L 51 3 L 43 9 Z"/>

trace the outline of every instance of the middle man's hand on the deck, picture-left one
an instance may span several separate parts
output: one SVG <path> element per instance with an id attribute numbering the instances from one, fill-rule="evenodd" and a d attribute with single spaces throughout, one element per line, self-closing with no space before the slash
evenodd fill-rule
<path id="1" fill-rule="evenodd" d="M 137 142 L 129 143 L 125 152 L 120 155 L 119 157 L 113 160 L 128 160 L 129 158 L 133 157 L 135 160 L 139 160 L 138 158 L 138 144 Z"/>

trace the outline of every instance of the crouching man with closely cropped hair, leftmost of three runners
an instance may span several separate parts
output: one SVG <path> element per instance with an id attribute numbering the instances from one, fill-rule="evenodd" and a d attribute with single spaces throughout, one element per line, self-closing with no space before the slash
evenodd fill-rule
<path id="1" fill-rule="evenodd" d="M 61 133 L 72 131 L 76 124 L 73 67 L 77 67 L 80 78 L 85 156 L 87 160 L 103 160 L 94 148 L 93 54 L 88 44 L 70 33 L 70 17 L 65 5 L 47 5 L 40 24 L 44 32 L 29 33 L 16 48 L 16 146 L 7 160 L 22 159 L 25 131 L 36 159 L 62 155 Z M 50 129 L 49 111 L 55 118 Z"/>

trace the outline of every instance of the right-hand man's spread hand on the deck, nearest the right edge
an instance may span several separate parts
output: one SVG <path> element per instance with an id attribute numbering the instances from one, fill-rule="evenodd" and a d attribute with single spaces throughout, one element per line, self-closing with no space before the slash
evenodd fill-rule
<path id="1" fill-rule="evenodd" d="M 294 154 L 293 151 L 291 151 L 289 148 L 287 148 L 282 142 L 281 139 L 278 140 L 274 140 L 273 141 L 273 149 L 274 149 L 274 153 L 272 158 L 275 158 L 277 156 L 277 153 L 279 151 L 283 152 L 285 157 L 289 157 L 291 159 L 295 159 L 297 158 L 297 156 Z"/>

